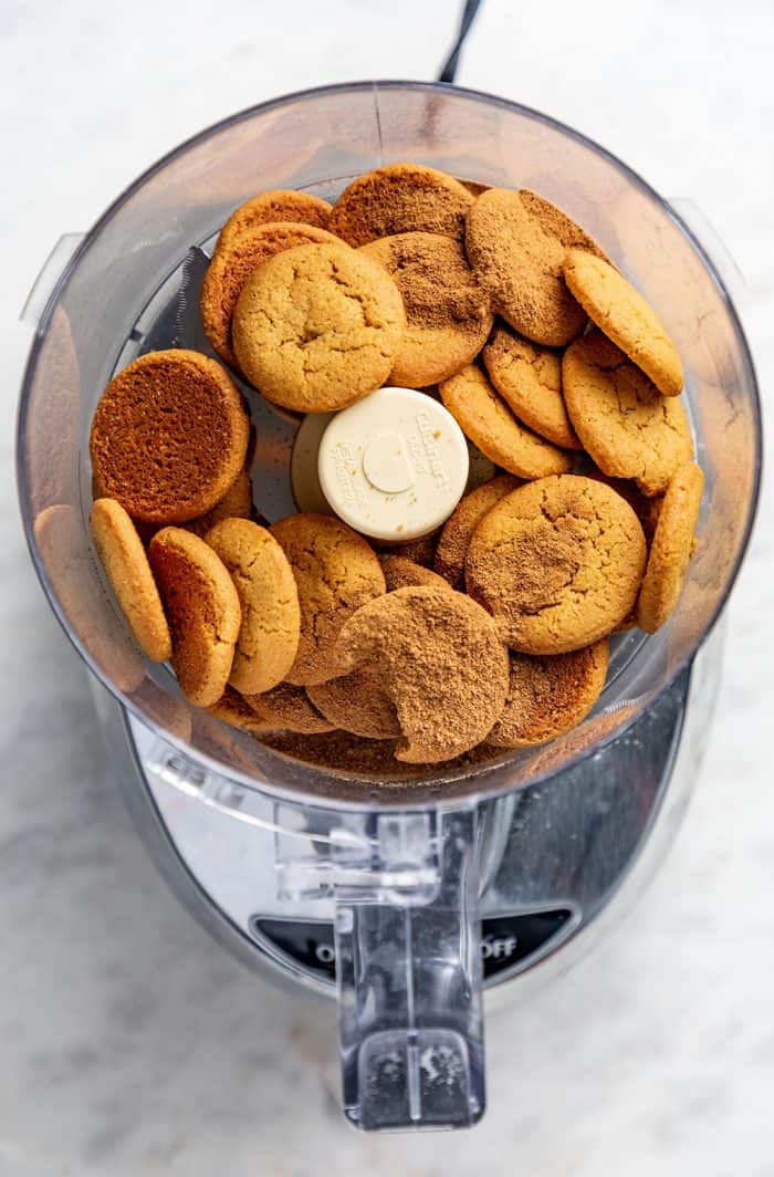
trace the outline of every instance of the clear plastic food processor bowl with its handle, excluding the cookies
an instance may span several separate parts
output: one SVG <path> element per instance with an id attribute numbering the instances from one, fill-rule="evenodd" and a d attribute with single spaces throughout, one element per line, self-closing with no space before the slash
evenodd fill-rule
<path id="1" fill-rule="evenodd" d="M 678 344 L 706 494 L 673 618 L 653 637 L 615 640 L 605 691 L 579 729 L 548 749 L 475 767 L 379 779 L 301 763 L 225 727 L 181 697 L 168 667 L 142 660 L 92 550 L 88 432 L 105 385 L 135 355 L 175 345 L 209 351 L 199 282 L 239 202 L 279 187 L 334 199 L 354 175 L 398 160 L 534 188 L 600 241 Z M 176 779 L 189 791 L 222 806 L 252 791 L 274 799 L 278 887 L 335 899 L 349 1118 L 372 1129 L 474 1123 L 485 1102 L 480 803 L 551 778 L 653 705 L 707 637 L 745 551 L 759 404 L 727 290 L 675 208 L 593 142 L 501 99 L 405 82 L 295 94 L 202 132 L 146 172 L 88 234 L 65 239 L 60 270 L 68 252 L 35 315 L 19 417 L 22 513 L 52 607 L 93 673 L 187 766 Z M 274 520 L 293 510 L 298 421 L 243 391 L 258 427 L 255 499 Z M 249 819 L 249 805 L 241 809 Z"/>

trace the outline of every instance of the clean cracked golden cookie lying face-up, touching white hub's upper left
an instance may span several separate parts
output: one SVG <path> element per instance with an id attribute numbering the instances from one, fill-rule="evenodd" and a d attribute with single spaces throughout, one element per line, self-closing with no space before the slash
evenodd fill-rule
<path id="1" fill-rule="evenodd" d="M 301 245 L 246 281 L 232 320 L 240 367 L 301 413 L 346 408 L 389 375 L 406 313 L 383 266 L 346 245 Z"/>

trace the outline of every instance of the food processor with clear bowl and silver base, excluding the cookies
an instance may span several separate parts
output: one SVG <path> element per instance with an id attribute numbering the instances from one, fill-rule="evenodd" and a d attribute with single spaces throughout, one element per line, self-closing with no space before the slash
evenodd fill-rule
<path id="1" fill-rule="evenodd" d="M 136 355 L 212 354 L 199 287 L 236 205 L 291 187 L 333 200 L 400 160 L 533 188 L 600 242 L 678 345 L 707 488 L 672 619 L 613 639 L 587 719 L 542 747 L 387 774 L 376 759 L 348 764 L 335 733 L 309 739 L 303 759 L 281 737 L 227 727 L 142 659 L 92 547 L 88 432 L 104 387 Z M 169 885 L 226 947 L 300 997 L 338 995 L 343 1109 L 361 1129 L 474 1124 L 483 1006 L 545 984 L 605 935 L 685 811 L 760 472 L 755 377 L 719 255 L 692 206 L 667 204 L 545 115 L 454 86 L 361 82 L 194 137 L 91 232 L 62 239 L 27 304 L 21 510 L 45 592 L 92 671 L 115 776 Z M 255 501 L 274 521 L 295 510 L 300 421 L 242 391 Z"/>

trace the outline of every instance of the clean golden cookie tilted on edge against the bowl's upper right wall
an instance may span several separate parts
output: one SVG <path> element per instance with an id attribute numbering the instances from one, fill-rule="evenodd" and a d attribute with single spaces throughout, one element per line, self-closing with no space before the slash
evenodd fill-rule
<path id="1" fill-rule="evenodd" d="M 603 258 L 568 250 L 565 281 L 596 326 L 648 375 L 665 397 L 682 391 L 678 348 L 653 307 Z"/>

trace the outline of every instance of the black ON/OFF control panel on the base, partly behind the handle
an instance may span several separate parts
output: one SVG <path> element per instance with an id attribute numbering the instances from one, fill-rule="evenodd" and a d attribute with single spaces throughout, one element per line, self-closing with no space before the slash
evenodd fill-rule
<path id="1" fill-rule="evenodd" d="M 485 984 L 499 973 L 512 970 L 543 952 L 548 943 L 559 939 L 575 923 L 569 907 L 491 916 L 481 920 L 481 963 Z M 336 955 L 333 924 L 329 920 L 274 919 L 252 916 L 249 930 L 254 939 L 273 955 L 289 958 L 316 979 L 333 984 Z"/>

